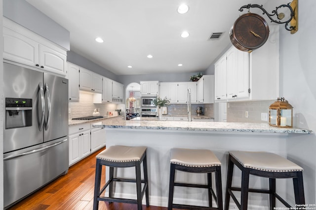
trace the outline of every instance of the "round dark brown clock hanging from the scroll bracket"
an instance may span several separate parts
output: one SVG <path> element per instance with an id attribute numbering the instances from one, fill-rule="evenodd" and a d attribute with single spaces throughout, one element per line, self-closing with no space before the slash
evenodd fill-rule
<path id="1" fill-rule="evenodd" d="M 230 30 L 233 45 L 238 50 L 249 53 L 266 43 L 268 37 L 269 26 L 266 20 L 260 15 L 250 12 L 238 17 Z"/>

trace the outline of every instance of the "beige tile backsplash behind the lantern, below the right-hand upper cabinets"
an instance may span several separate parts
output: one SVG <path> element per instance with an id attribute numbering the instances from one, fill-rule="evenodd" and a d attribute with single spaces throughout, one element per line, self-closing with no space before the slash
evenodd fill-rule
<path id="1" fill-rule="evenodd" d="M 227 122 L 269 123 L 269 121 L 261 120 L 261 113 L 267 113 L 269 117 L 269 106 L 274 101 L 275 100 L 228 102 L 227 103 Z M 246 112 L 248 112 L 248 118 L 245 117 Z"/>

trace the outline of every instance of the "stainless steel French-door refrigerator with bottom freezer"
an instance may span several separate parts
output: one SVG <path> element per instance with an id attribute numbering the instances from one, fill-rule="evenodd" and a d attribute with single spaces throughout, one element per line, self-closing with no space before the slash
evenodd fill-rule
<path id="1" fill-rule="evenodd" d="M 68 172 L 68 80 L 3 63 L 4 208 Z"/>

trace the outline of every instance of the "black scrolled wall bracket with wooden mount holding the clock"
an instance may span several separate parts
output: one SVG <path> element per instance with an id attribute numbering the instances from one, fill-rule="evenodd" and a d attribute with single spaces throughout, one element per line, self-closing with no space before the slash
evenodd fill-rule
<path id="1" fill-rule="evenodd" d="M 282 19 L 285 17 L 285 14 L 282 12 L 278 12 L 277 10 L 279 8 L 286 7 L 290 11 L 290 17 L 288 20 L 283 21 Z M 266 14 L 268 18 L 271 20 L 271 22 L 277 23 L 277 24 L 285 24 L 285 29 L 288 31 L 291 31 L 291 34 L 295 33 L 298 30 L 298 0 L 293 0 L 291 3 L 288 4 L 282 4 L 276 7 L 275 10 L 272 11 L 272 14 L 268 13 L 267 10 L 265 10 L 262 5 L 259 4 L 247 4 L 243 5 L 238 9 L 240 12 L 243 11 L 243 9 L 250 9 L 250 8 L 259 8 L 263 11 L 263 15 Z M 276 16 L 277 20 L 274 19 L 273 16 Z"/>

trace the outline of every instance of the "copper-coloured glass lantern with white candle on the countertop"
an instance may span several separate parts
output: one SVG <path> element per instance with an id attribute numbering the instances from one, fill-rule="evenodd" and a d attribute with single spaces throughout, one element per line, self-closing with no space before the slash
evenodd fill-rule
<path id="1" fill-rule="evenodd" d="M 276 127 L 293 127 L 293 107 L 284 98 L 277 98 L 277 101 L 270 105 L 269 124 Z"/>

